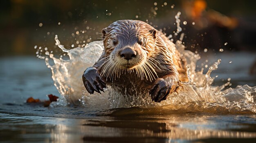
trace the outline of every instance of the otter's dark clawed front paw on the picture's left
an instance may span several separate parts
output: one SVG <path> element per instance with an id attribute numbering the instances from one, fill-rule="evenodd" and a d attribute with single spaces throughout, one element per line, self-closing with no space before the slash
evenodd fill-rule
<path id="1" fill-rule="evenodd" d="M 94 91 L 101 94 L 100 91 L 103 91 L 103 88 L 107 87 L 106 82 L 102 79 L 99 73 L 97 73 L 97 69 L 93 67 L 87 68 L 83 73 L 82 78 L 83 84 L 90 94 L 93 94 Z"/>

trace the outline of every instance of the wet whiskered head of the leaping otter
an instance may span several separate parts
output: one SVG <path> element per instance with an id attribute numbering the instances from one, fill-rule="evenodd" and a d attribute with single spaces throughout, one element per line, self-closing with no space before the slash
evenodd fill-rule
<path id="1" fill-rule="evenodd" d="M 101 75 L 110 79 L 136 73 L 152 81 L 155 73 L 154 55 L 157 31 L 139 20 L 119 20 L 102 29 L 106 60 Z"/>

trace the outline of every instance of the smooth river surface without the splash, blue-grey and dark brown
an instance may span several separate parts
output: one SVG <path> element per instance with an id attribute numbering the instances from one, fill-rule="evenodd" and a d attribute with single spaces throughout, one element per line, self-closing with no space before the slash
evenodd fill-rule
<path id="1" fill-rule="evenodd" d="M 211 76 L 213 85 L 231 78 L 231 87 L 256 86 L 249 66 L 256 53 L 201 54 L 200 61 L 222 59 Z M 231 62 L 232 61 L 232 62 Z M 231 63 L 230 63 L 231 62 Z M 209 65 L 211 65 L 209 64 Z M 94 109 L 83 106 L 45 108 L 27 104 L 29 97 L 47 100 L 46 95 L 61 96 L 52 73 L 36 57 L 0 58 L 0 142 L 206 142 L 255 143 L 256 114 L 251 112 L 214 112 L 166 110 L 164 107 Z M 225 81 L 222 81 L 225 79 Z M 255 104 L 254 104 L 255 105 Z"/>

